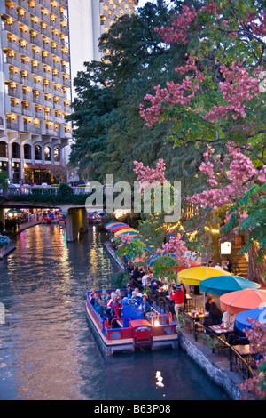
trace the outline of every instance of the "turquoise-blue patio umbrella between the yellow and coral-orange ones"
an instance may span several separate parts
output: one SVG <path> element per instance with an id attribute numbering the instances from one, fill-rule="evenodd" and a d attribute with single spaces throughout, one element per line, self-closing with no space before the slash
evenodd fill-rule
<path id="1" fill-rule="evenodd" d="M 219 270 L 218 270 L 219 271 Z M 226 273 L 226 271 L 223 271 Z M 239 276 L 231 276 L 226 274 L 224 276 L 210 277 L 200 282 L 200 290 L 205 293 L 213 293 L 222 296 L 224 293 L 236 292 L 243 289 L 259 289 L 260 285 L 246 280 L 246 278 Z"/>

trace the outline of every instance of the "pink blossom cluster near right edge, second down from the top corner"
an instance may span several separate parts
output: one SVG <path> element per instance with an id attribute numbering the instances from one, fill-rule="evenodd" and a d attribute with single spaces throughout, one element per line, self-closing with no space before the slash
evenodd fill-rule
<path id="1" fill-rule="evenodd" d="M 254 95 L 259 92 L 258 79 L 250 76 L 246 68 L 242 68 L 239 63 L 235 62 L 230 68 L 223 65 L 221 73 L 225 81 L 220 82 L 219 87 L 227 105 L 215 105 L 214 109 L 207 112 L 203 118 L 215 123 L 222 117 L 228 117 L 231 112 L 233 112 L 231 117 L 234 120 L 238 117 L 246 118 L 246 100 L 253 99 Z"/>

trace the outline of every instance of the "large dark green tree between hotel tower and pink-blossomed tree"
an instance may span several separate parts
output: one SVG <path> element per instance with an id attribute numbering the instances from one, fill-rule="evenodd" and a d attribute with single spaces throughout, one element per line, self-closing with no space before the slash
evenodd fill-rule
<path id="1" fill-rule="evenodd" d="M 123 16 L 100 40 L 104 59 L 85 63 L 74 79 L 71 162 L 81 169 L 89 166 L 92 180 L 103 181 L 106 173 L 113 173 L 114 180 L 134 181 L 133 160 L 152 164 L 163 148 L 171 123 L 148 128 L 139 103 L 154 84 L 180 77 L 175 68 L 184 64 L 185 47 L 169 48 L 154 32 L 171 15 L 159 1 Z"/>

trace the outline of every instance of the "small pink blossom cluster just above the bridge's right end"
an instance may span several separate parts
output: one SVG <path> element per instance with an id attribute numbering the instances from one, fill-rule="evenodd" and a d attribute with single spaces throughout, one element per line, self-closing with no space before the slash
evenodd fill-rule
<path id="1" fill-rule="evenodd" d="M 137 181 L 141 184 L 151 184 L 153 181 L 158 181 L 162 184 L 166 181 L 164 172 L 166 169 L 165 162 L 162 158 L 156 164 L 156 168 L 150 168 L 148 165 L 143 165 L 141 162 L 134 161 L 135 168 L 133 171 L 137 173 Z"/>

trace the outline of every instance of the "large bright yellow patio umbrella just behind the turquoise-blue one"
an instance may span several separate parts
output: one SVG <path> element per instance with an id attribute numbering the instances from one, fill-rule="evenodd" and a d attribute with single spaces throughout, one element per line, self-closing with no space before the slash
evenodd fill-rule
<path id="1" fill-rule="evenodd" d="M 183 281 L 186 285 L 200 285 L 201 280 L 210 277 L 225 276 L 230 273 L 228 271 L 219 271 L 213 267 L 191 267 L 178 272 L 178 280 Z M 230 275 L 231 276 L 231 275 Z"/>

